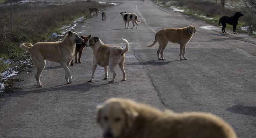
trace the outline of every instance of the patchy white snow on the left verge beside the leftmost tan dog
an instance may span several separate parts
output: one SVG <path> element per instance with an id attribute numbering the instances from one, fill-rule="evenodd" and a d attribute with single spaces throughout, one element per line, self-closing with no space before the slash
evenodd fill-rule
<path id="1" fill-rule="evenodd" d="M 19 65 L 19 64 L 27 64 L 27 65 L 30 65 L 30 62 L 31 62 L 31 59 L 26 59 L 26 60 L 23 60 L 23 61 L 17 61 L 15 62 L 16 65 Z M 14 63 L 13 61 L 10 62 L 11 64 Z M 18 66 L 14 66 L 14 67 L 10 67 L 8 68 L 6 71 L 4 71 L 3 73 L 0 74 L 1 76 L 1 82 L 0 82 L 0 93 L 4 92 L 4 89 L 5 89 L 5 83 L 4 81 L 8 80 L 9 77 L 12 77 L 14 75 L 17 75 L 18 74 Z"/>

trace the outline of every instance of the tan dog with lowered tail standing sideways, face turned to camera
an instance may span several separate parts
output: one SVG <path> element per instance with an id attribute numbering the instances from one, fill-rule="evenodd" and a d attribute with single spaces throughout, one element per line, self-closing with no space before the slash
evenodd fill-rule
<path id="1" fill-rule="evenodd" d="M 155 41 L 152 45 L 148 47 L 152 47 L 159 43 L 159 48 L 157 50 L 157 57 L 159 60 L 166 60 L 163 56 L 164 49 L 169 42 L 180 44 L 180 60 L 187 60 L 188 58 L 185 57 L 185 48 L 187 43 L 190 41 L 194 33 L 196 32 L 196 28 L 193 25 L 184 28 L 167 28 L 162 29 L 155 35 Z M 159 55 L 161 54 L 161 57 Z"/>

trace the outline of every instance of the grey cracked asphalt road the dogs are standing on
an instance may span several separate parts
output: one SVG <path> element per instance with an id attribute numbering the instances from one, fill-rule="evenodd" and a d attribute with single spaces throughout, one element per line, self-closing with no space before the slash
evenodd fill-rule
<path id="1" fill-rule="evenodd" d="M 256 46 L 249 40 L 209 26 L 177 12 L 163 11 L 153 2 L 120 1 L 107 8 L 107 20 L 94 17 L 75 29 L 82 35 L 92 34 L 105 44 L 125 46 L 127 81 L 109 84 L 104 68 L 98 67 L 95 82 L 86 83 L 92 72 L 92 50 L 86 48 L 82 64 L 71 66 L 73 83 L 65 85 L 64 70 L 57 63 L 47 62 L 36 87 L 32 73 L 21 72 L 23 78 L 16 93 L 1 97 L 1 137 L 101 137 L 95 122 L 95 106 L 110 97 L 124 97 L 176 112 L 204 111 L 224 118 L 241 138 L 256 137 Z M 138 29 L 123 29 L 119 14 L 133 12 L 139 16 Z M 157 59 L 158 45 L 149 48 L 155 32 L 161 28 L 196 26 L 197 31 L 187 45 L 186 61 L 179 60 L 179 45 L 169 43 L 166 61 Z M 231 32 L 231 31 L 229 31 Z M 112 77 L 109 71 L 110 78 Z"/>

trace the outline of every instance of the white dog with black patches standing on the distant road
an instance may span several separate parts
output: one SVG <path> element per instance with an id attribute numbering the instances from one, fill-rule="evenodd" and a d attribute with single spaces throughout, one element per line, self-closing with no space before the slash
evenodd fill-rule
<path id="1" fill-rule="evenodd" d="M 138 23 L 137 23 L 137 21 L 140 22 L 140 20 L 138 20 L 138 16 L 137 16 L 136 14 L 134 14 L 134 13 L 129 13 L 129 14 L 127 14 L 126 12 L 121 12 L 120 14 L 122 15 L 123 20 L 124 20 L 124 22 L 125 22 L 124 29 L 126 29 L 126 22 L 127 22 L 127 24 L 128 24 L 128 25 L 127 25 L 127 29 L 129 28 L 129 22 L 130 22 L 130 21 L 132 21 L 132 24 L 133 24 L 133 26 L 132 26 L 131 29 L 133 29 L 133 27 L 135 26 L 134 23 L 137 25 L 136 28 L 138 28 Z"/>

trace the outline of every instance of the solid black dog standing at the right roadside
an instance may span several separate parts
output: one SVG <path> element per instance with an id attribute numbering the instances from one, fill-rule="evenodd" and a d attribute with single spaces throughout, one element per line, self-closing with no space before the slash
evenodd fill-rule
<path id="1" fill-rule="evenodd" d="M 227 33 L 225 31 L 225 27 L 228 24 L 233 25 L 233 31 L 234 34 L 236 34 L 235 29 L 236 25 L 238 24 L 238 20 L 241 16 L 244 16 L 241 12 L 236 12 L 234 16 L 228 17 L 228 16 L 222 16 L 219 20 L 219 25 L 220 23 L 222 24 L 222 33 Z"/>

